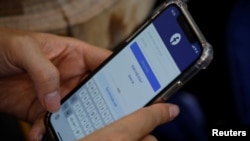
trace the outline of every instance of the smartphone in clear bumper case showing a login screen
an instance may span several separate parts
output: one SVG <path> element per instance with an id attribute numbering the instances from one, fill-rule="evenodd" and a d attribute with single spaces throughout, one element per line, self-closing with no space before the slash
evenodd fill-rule
<path id="1" fill-rule="evenodd" d="M 139 108 L 165 101 L 213 58 L 186 3 L 165 2 L 124 44 L 47 113 L 52 138 L 84 138 Z M 146 118 L 146 117 L 145 117 Z"/>

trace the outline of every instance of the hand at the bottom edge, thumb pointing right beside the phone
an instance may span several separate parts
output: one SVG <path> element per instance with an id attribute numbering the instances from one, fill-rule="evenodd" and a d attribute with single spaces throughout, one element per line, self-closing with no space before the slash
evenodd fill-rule
<path id="1" fill-rule="evenodd" d="M 173 120 L 178 114 L 179 108 L 174 104 L 153 104 L 95 131 L 80 141 L 156 141 L 150 132 L 156 126 Z"/>

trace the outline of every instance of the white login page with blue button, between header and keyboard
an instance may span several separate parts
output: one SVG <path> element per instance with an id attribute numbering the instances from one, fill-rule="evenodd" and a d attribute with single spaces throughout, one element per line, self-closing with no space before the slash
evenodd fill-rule
<path id="1" fill-rule="evenodd" d="M 180 73 L 153 24 L 128 46 L 94 77 L 116 118 L 143 107 Z"/>

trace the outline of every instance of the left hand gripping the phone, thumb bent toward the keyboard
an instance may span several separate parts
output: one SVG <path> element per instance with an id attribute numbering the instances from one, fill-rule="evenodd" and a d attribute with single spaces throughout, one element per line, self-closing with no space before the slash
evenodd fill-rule
<path id="1" fill-rule="evenodd" d="M 40 140 L 46 111 L 112 52 L 77 39 L 0 28 L 0 112 L 33 124 Z"/>

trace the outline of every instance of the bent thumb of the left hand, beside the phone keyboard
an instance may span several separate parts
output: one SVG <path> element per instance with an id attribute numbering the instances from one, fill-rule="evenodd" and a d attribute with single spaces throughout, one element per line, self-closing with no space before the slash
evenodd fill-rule
<path id="1" fill-rule="evenodd" d="M 48 111 L 58 110 L 61 99 L 58 70 L 44 56 L 39 44 L 32 38 L 24 38 L 19 43 L 20 49 L 15 53 L 17 64 L 28 72 L 41 104 Z"/>

